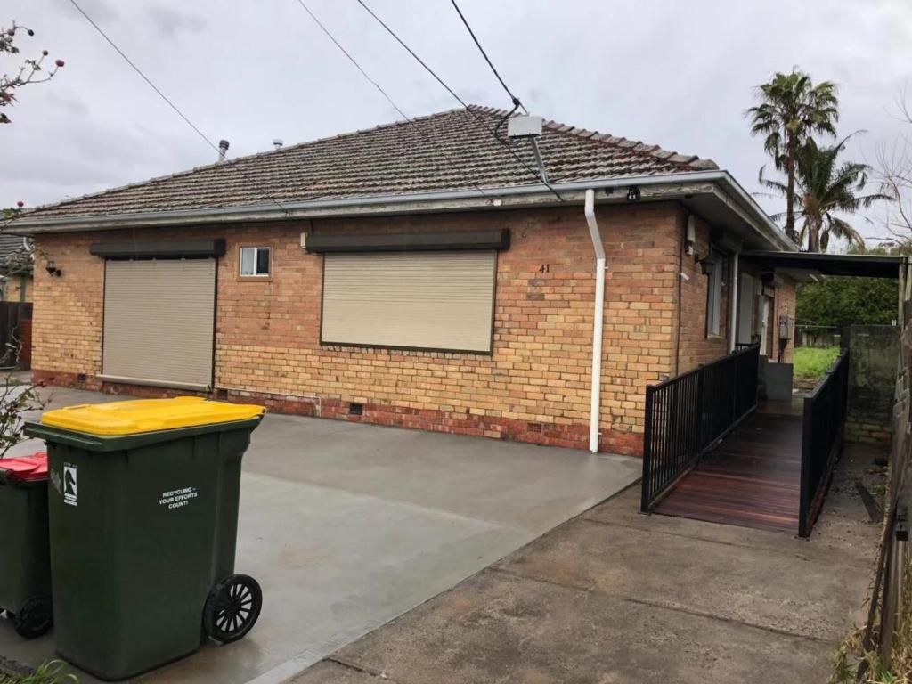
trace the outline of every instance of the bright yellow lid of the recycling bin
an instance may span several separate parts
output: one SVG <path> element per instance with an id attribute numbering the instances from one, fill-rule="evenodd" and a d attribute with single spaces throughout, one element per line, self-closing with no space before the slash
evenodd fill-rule
<path id="1" fill-rule="evenodd" d="M 131 435 L 258 418 L 266 409 L 202 397 L 131 399 L 47 411 L 41 424 L 92 435 Z"/>

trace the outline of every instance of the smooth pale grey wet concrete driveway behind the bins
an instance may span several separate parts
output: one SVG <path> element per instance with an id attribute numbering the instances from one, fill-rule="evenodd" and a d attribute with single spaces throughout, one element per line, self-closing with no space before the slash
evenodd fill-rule
<path id="1" fill-rule="evenodd" d="M 119 399 L 55 389 L 53 406 Z M 16 453 L 40 448 L 22 444 Z M 281 682 L 620 491 L 640 461 L 268 415 L 244 460 L 238 572 L 263 586 L 253 632 L 137 678 Z M 0 656 L 53 658 L 0 622 Z M 82 684 L 95 681 L 78 672 Z"/>

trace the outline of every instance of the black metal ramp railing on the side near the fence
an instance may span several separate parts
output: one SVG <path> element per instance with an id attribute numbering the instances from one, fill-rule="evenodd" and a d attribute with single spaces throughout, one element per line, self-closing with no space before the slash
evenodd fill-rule
<path id="1" fill-rule="evenodd" d="M 804 398 L 801 503 L 798 534 L 811 534 L 843 444 L 849 386 L 849 353 L 843 352 L 817 387 Z"/>

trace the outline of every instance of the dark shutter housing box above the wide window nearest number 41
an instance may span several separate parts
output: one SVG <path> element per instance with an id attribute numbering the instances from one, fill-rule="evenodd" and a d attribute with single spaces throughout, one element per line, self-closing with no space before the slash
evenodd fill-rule
<path id="1" fill-rule="evenodd" d="M 305 249 L 316 254 L 341 252 L 429 252 L 467 249 L 509 249 L 510 231 L 436 233 L 340 233 L 307 235 Z"/>

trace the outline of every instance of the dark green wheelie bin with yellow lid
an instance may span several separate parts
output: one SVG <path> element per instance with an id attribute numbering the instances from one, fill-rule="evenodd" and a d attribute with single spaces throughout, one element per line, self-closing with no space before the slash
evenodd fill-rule
<path id="1" fill-rule="evenodd" d="M 263 407 L 197 397 L 47 411 L 57 653 L 126 679 L 244 637 L 262 592 L 234 574 L 241 459 Z"/>

